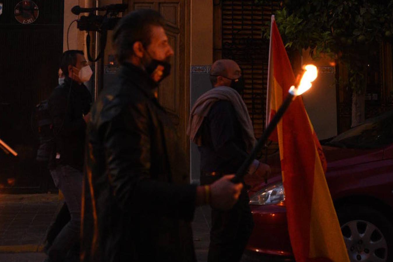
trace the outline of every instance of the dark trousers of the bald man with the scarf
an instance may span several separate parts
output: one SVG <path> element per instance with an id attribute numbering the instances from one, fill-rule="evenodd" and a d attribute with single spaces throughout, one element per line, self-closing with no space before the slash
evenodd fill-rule
<path id="1" fill-rule="evenodd" d="M 210 184 L 219 177 L 201 174 L 201 184 Z M 211 210 L 208 262 L 239 262 L 254 226 L 250 199 L 243 189 L 238 202 L 228 211 Z"/>

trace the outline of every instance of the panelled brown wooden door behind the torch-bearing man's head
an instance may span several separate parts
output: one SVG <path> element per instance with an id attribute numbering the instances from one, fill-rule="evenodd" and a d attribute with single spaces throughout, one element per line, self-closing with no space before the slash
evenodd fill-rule
<path id="1" fill-rule="evenodd" d="M 189 3 L 185 0 L 129 0 L 128 5 L 129 11 L 155 9 L 166 21 L 165 31 L 174 55 L 171 59 L 171 75 L 160 84 L 158 100 L 176 125 L 189 163 L 189 139 L 185 134 L 189 115 L 189 30 L 186 29 L 189 28 Z"/>

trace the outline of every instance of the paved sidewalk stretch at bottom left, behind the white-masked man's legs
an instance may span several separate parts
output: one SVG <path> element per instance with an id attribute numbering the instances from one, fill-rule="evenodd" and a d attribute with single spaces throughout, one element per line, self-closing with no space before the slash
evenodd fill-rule
<path id="1" fill-rule="evenodd" d="M 58 194 L 0 194 L 0 261 L 42 262 L 46 230 L 60 203 Z"/>

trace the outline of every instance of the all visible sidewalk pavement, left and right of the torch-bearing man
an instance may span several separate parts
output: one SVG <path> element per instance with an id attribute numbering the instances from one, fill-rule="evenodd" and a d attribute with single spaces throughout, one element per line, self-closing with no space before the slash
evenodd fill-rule
<path id="1" fill-rule="evenodd" d="M 46 231 L 61 208 L 58 194 L 0 194 L 0 262 L 42 262 Z M 210 207 L 198 207 L 192 223 L 198 262 L 206 262 Z M 241 262 L 287 261 L 255 257 L 246 252 Z M 291 260 L 289 260 L 291 261 Z"/>

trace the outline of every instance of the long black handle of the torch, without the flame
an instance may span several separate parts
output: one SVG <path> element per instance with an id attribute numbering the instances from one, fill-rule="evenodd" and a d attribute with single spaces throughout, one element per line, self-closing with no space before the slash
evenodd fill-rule
<path id="1" fill-rule="evenodd" d="M 246 175 L 248 168 L 250 167 L 252 161 L 255 159 L 257 154 L 262 150 L 264 147 L 267 139 L 269 138 L 270 134 L 272 134 L 273 130 L 277 126 L 278 122 L 280 121 L 281 117 L 283 117 L 285 111 L 288 109 L 288 106 L 292 103 L 295 96 L 291 93 L 288 93 L 286 96 L 283 104 L 281 104 L 280 108 L 277 110 L 277 113 L 274 115 L 272 121 L 270 121 L 269 125 L 266 127 L 265 131 L 263 132 L 262 136 L 259 138 L 257 144 L 252 149 L 251 154 L 244 160 L 243 164 L 237 170 L 236 175 L 232 178 L 233 183 L 241 183 L 243 177 Z"/>

